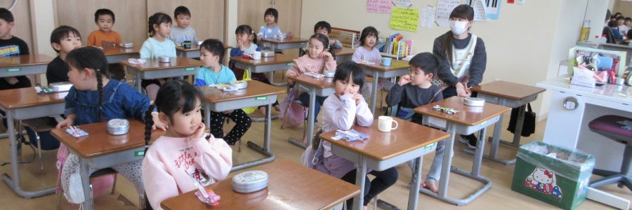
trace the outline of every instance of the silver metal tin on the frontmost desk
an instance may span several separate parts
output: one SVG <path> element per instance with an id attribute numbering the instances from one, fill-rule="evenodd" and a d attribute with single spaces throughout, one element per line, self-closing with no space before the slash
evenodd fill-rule
<path id="1" fill-rule="evenodd" d="M 252 193 L 268 187 L 268 173 L 249 171 L 232 177 L 232 190 L 237 193 Z"/>

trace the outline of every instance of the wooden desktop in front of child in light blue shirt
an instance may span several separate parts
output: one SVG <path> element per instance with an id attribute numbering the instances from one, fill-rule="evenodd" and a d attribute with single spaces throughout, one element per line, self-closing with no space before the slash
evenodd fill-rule
<path id="1" fill-rule="evenodd" d="M 202 94 L 204 95 L 204 100 L 206 102 L 218 103 L 218 102 L 228 102 L 236 99 L 246 99 L 253 97 L 265 97 L 273 94 L 283 94 L 285 93 L 284 87 L 276 87 L 272 85 L 268 85 L 266 83 L 262 83 L 258 80 L 249 80 L 248 87 L 242 90 L 225 92 L 223 90 L 219 90 L 215 87 L 203 86 L 199 87 L 202 90 Z"/>

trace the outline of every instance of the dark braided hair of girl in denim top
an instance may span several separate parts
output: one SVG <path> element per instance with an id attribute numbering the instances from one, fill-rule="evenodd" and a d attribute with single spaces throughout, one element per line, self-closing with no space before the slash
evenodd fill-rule
<path id="1" fill-rule="evenodd" d="M 103 77 L 110 78 L 110 70 L 107 70 L 107 59 L 105 54 L 103 54 L 103 50 L 95 47 L 74 49 L 66 55 L 66 63 L 79 71 L 84 71 L 84 69 L 96 71 L 100 109 L 103 102 Z"/>

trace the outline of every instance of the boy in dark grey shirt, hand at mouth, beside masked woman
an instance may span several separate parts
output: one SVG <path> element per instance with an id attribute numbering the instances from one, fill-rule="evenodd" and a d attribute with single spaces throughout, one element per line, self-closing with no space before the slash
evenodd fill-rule
<path id="1" fill-rule="evenodd" d="M 400 111 L 397 113 L 398 117 L 422 125 L 421 115 L 414 113 L 412 109 L 443 99 L 441 89 L 430 82 L 430 79 L 437 74 L 439 61 L 432 53 L 422 52 L 415 55 L 408 63 L 410 65 L 410 75 L 400 76 L 397 84 L 393 85 L 393 88 L 388 91 L 386 104 L 388 106 L 400 105 Z M 421 186 L 437 193 L 436 182 L 440 177 L 445 141 L 439 141 L 435 151 L 433 165 L 426 175 L 425 183 L 421 184 Z M 412 165 L 410 166 L 412 168 Z"/>

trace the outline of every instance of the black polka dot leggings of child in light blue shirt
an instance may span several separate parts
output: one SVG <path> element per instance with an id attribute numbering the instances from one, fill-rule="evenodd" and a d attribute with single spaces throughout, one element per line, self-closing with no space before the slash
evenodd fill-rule
<path id="1" fill-rule="evenodd" d="M 224 136 L 224 119 L 230 118 L 233 122 L 235 122 L 235 127 L 232 127 L 232 130 L 228 132 L 228 135 Z M 211 111 L 211 134 L 216 138 L 223 138 L 226 143 L 230 145 L 235 145 L 239 139 L 242 139 L 242 136 L 248 131 L 250 125 L 252 124 L 252 120 L 250 117 L 246 115 L 246 113 L 241 109 L 235 109 L 231 113 L 221 113 Z"/>

